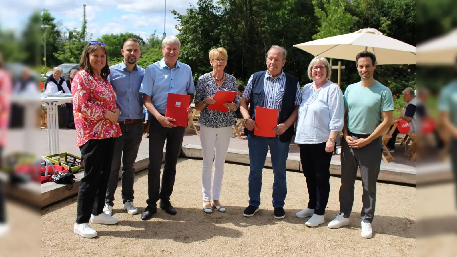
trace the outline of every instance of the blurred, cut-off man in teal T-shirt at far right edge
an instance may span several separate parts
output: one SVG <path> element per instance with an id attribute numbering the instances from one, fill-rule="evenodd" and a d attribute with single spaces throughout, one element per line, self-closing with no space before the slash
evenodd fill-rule
<path id="1" fill-rule="evenodd" d="M 443 88 L 440 94 L 439 107 L 443 125 L 451 135 L 449 150 L 451 153 L 452 173 L 454 173 L 454 180 L 456 182 L 457 200 L 457 80 L 452 81 Z"/>

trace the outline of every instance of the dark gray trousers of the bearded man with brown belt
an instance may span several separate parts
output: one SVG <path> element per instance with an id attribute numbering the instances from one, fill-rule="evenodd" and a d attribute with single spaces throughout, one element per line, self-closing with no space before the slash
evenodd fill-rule
<path id="1" fill-rule="evenodd" d="M 122 160 L 122 202 L 133 201 L 133 182 L 135 181 L 135 160 L 141 139 L 143 139 L 143 123 L 120 124 L 122 136 L 116 138 L 114 155 L 111 165 L 111 174 L 106 190 L 105 203 L 113 206 L 114 193 L 117 188 L 119 169 Z M 122 157 L 122 159 L 121 159 Z"/>

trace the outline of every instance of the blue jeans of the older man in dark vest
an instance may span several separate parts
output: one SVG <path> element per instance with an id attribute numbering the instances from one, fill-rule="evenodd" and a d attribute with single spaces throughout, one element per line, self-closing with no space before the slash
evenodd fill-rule
<path id="1" fill-rule="evenodd" d="M 273 207 L 284 207 L 287 195 L 286 161 L 289 155 L 290 141 L 282 143 L 279 137 L 267 138 L 248 135 L 249 146 L 249 205 L 260 206 L 262 190 L 262 171 L 270 145 L 271 164 L 273 166 Z"/>

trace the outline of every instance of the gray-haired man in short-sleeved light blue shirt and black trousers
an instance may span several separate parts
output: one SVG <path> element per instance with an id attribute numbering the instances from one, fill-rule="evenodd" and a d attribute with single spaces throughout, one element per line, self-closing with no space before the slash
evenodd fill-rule
<path id="1" fill-rule="evenodd" d="M 184 94 L 194 99 L 195 87 L 191 67 L 178 62 L 181 43 L 175 36 L 165 37 L 162 41 L 164 58 L 149 65 L 144 72 L 140 92 L 143 104 L 149 111 L 149 171 L 148 171 L 148 206 L 141 215 L 142 220 L 149 220 L 156 213 L 156 203 L 160 199 L 160 208 L 171 215 L 176 214 L 170 204 L 176 175 L 176 162 L 181 150 L 185 127 L 171 124 L 172 118 L 165 117 L 168 93 Z M 190 108 L 190 107 L 189 107 Z M 188 110 L 189 111 L 189 110 Z M 167 141 L 165 166 L 160 187 L 160 166 L 162 150 Z"/>

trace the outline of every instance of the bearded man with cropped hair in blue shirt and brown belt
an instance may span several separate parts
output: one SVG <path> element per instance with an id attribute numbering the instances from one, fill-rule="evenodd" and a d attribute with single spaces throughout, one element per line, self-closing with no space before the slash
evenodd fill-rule
<path id="1" fill-rule="evenodd" d="M 138 39 L 129 38 L 124 42 L 121 53 L 124 59 L 120 64 L 110 67 L 108 80 L 116 91 L 117 106 L 121 115 L 118 121 L 122 135 L 116 138 L 111 174 L 106 190 L 103 211 L 111 215 L 114 205 L 114 193 L 117 188 L 122 156 L 122 202 L 129 214 L 137 214 L 133 205 L 133 182 L 135 179 L 135 160 L 143 137 L 143 96 L 139 93 L 143 81 L 144 69 L 137 65 L 141 56 Z"/>

